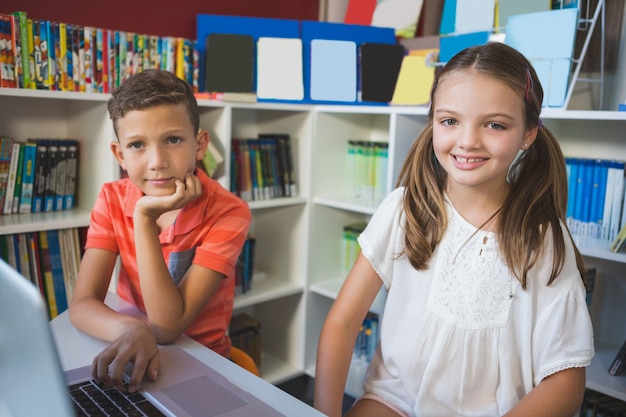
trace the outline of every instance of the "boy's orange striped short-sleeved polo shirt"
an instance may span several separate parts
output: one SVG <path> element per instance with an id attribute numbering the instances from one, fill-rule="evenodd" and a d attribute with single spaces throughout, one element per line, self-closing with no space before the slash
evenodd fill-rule
<path id="1" fill-rule="evenodd" d="M 202 195 L 182 208 L 159 240 L 172 279 L 178 282 L 191 263 L 225 276 L 209 303 L 185 334 L 217 353 L 230 355 L 228 324 L 233 311 L 235 264 L 250 226 L 250 209 L 236 195 L 196 170 Z M 118 294 L 145 312 L 133 234 L 133 211 L 142 192 L 128 178 L 104 184 L 91 213 L 86 248 L 120 255 Z"/>

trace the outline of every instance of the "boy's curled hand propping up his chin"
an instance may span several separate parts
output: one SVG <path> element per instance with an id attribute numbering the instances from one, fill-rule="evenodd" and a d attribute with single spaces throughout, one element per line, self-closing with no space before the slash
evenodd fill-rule
<path id="1" fill-rule="evenodd" d="M 143 214 L 156 220 L 163 213 L 184 207 L 200 194 L 202 194 L 200 179 L 193 174 L 187 174 L 185 182 L 176 180 L 174 194 L 161 197 L 148 195 L 141 197 L 135 206 L 135 215 Z"/>

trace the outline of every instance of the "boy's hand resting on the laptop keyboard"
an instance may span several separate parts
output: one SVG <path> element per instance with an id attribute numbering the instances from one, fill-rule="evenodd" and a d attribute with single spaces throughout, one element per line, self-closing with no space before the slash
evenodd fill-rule
<path id="1" fill-rule="evenodd" d="M 155 381 L 161 370 L 156 339 L 144 323 L 127 326 L 117 340 L 100 352 L 91 364 L 91 375 L 99 383 L 124 390 L 124 370 L 129 364 L 132 373 L 128 392 L 137 391 L 144 375 Z"/>

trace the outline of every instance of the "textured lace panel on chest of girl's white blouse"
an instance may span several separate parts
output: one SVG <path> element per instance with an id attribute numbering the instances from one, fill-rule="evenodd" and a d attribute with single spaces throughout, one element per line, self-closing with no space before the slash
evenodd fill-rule
<path id="1" fill-rule="evenodd" d="M 519 281 L 500 259 L 495 234 L 475 233 L 474 226 L 451 211 L 439 245 L 428 308 L 462 329 L 503 327 Z"/>

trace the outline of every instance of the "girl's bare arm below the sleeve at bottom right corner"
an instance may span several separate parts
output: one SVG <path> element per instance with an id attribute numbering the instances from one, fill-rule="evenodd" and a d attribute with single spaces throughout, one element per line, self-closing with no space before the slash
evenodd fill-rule
<path id="1" fill-rule="evenodd" d="M 569 368 L 543 379 L 505 417 L 572 417 L 585 393 L 585 368 Z"/>

